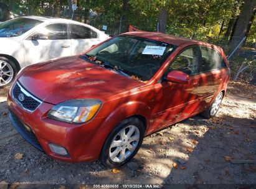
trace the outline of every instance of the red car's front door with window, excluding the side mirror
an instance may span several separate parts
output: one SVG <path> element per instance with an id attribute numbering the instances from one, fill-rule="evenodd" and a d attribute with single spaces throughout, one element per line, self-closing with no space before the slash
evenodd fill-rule
<path id="1" fill-rule="evenodd" d="M 158 93 L 158 106 L 155 106 L 154 126 L 161 129 L 168 124 L 188 118 L 200 109 L 199 87 L 200 75 L 198 75 L 199 48 L 197 46 L 185 48 L 174 58 L 163 75 L 163 81 L 156 85 L 161 88 Z M 189 75 L 189 83 L 173 83 L 166 80 L 166 76 L 172 70 L 183 71 Z M 161 96 L 161 97 L 160 97 Z"/>

